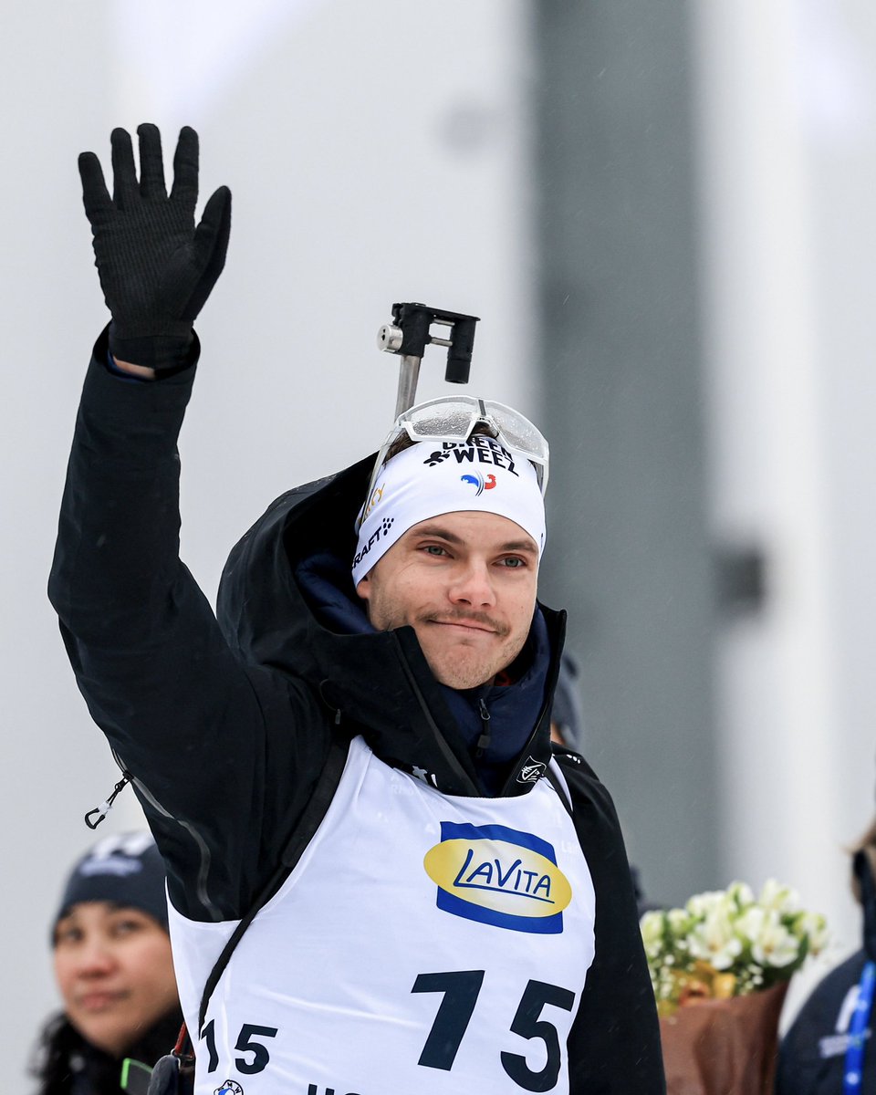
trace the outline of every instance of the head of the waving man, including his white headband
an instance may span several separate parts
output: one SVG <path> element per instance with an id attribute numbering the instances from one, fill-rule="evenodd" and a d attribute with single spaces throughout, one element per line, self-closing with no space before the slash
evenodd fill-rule
<path id="1" fill-rule="evenodd" d="M 463 401 L 414 407 L 397 428 L 422 423 L 430 408 L 446 415 L 454 403 Z M 471 404 L 472 415 L 481 407 L 489 414 L 483 401 Z M 506 407 L 495 413 L 508 422 L 516 415 Z M 539 451 L 546 460 L 546 445 Z M 439 449 L 417 441 L 378 471 L 370 495 L 377 500 L 361 520 L 353 565 L 368 619 L 378 631 L 411 625 L 441 684 L 492 682 L 520 654 L 535 611 L 544 545 L 535 468 L 480 433 Z"/>

